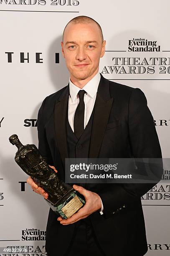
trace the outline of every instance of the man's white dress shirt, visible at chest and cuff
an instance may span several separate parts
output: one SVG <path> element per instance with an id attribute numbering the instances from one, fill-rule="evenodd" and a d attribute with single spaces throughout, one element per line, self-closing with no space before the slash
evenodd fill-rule
<path id="1" fill-rule="evenodd" d="M 89 82 L 87 82 L 82 89 L 73 84 L 69 78 L 69 107 L 68 107 L 68 119 L 71 129 L 74 132 L 74 114 L 76 108 L 79 104 L 79 90 L 85 90 L 84 94 L 84 128 L 89 122 L 91 113 L 94 108 L 94 103 L 96 100 L 96 93 L 100 82 L 100 73 L 98 72 Z M 103 214 L 103 204 L 101 201 L 100 214 Z"/>

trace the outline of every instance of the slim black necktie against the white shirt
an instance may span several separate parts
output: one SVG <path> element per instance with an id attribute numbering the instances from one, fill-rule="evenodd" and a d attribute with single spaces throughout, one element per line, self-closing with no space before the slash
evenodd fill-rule
<path id="1" fill-rule="evenodd" d="M 84 94 L 86 91 L 79 90 L 79 105 L 74 115 L 74 134 L 79 139 L 84 131 Z"/>

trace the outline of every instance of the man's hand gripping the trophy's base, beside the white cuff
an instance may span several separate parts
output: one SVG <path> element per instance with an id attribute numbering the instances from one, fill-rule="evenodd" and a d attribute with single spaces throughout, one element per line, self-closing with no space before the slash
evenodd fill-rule
<path id="1" fill-rule="evenodd" d="M 76 189 L 80 194 L 84 195 L 86 204 L 82 207 L 78 212 L 74 213 L 67 220 L 58 217 L 58 221 L 60 221 L 63 225 L 68 225 L 77 222 L 78 220 L 84 219 L 89 216 L 91 213 L 96 212 L 101 209 L 101 199 L 99 195 L 95 192 L 91 192 L 84 187 L 73 185 L 74 189 Z"/>

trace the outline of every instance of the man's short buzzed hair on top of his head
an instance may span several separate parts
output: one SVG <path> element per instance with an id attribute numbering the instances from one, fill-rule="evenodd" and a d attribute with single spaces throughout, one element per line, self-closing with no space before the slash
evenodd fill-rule
<path id="1" fill-rule="evenodd" d="M 67 23 L 67 25 L 68 25 L 69 23 L 74 23 L 74 24 L 78 24 L 78 23 L 88 24 L 88 23 L 92 23 L 92 22 L 96 23 L 97 26 L 99 27 L 100 35 L 101 35 L 101 42 L 103 43 L 103 39 L 104 39 L 104 38 L 103 38 L 103 33 L 102 33 L 102 30 L 101 30 L 101 26 L 99 25 L 98 22 L 96 22 L 96 20 L 94 20 L 94 19 L 92 19 L 92 18 L 90 18 L 90 17 L 88 17 L 88 16 L 77 16 L 77 17 L 73 18 L 72 20 L 70 20 L 70 21 Z M 65 26 L 64 31 L 65 31 L 67 25 Z M 64 31 L 63 31 L 63 37 L 64 37 Z"/>

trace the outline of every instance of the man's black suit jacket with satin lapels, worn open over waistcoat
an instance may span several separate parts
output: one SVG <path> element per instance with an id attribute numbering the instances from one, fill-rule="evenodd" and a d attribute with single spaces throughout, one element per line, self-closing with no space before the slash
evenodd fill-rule
<path id="1" fill-rule="evenodd" d="M 38 112 L 38 149 L 65 180 L 66 117 L 69 85 L 47 96 Z M 91 132 L 89 158 L 161 158 L 155 124 L 144 93 L 101 75 Z M 140 197 L 155 184 L 87 184 L 104 205 L 89 215 L 107 256 L 142 256 L 147 252 Z M 61 225 L 50 209 L 46 229 L 48 256 L 64 255 L 74 224 Z"/>

